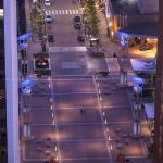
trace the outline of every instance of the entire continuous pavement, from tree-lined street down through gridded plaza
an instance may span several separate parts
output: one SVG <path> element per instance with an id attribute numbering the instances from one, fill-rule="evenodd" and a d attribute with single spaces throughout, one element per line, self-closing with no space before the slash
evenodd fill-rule
<path id="1" fill-rule="evenodd" d="M 72 1 L 53 0 L 46 14 L 54 21 L 48 33 L 51 76 L 37 78 L 29 55 L 29 76 L 35 78 L 30 96 L 23 103 L 24 163 L 116 163 L 123 154 L 131 163 L 149 163 L 146 148 L 133 137 L 133 110 L 129 91 L 120 86 L 120 74 L 95 75 L 109 71 L 104 58 L 92 58 L 76 37 L 73 17 L 79 9 Z M 36 43 L 36 47 L 35 47 Z M 33 50 L 34 48 L 34 50 Z M 38 42 L 28 52 L 40 51 Z"/>

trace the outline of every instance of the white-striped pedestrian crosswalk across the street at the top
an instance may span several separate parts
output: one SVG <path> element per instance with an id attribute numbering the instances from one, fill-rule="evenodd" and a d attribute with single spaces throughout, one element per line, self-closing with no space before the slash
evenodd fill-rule
<path id="1" fill-rule="evenodd" d="M 76 9 L 72 9 L 72 10 L 62 10 L 62 9 L 46 10 L 45 12 L 46 12 L 46 15 L 55 15 L 55 16 L 82 14 L 80 11 L 78 11 Z"/>

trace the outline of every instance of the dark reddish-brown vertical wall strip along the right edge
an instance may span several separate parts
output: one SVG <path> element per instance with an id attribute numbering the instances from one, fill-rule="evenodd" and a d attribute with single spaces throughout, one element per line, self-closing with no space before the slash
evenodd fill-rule
<path id="1" fill-rule="evenodd" d="M 156 59 L 156 100 L 154 120 L 154 163 L 163 162 L 163 1 L 159 3 L 159 34 Z"/>

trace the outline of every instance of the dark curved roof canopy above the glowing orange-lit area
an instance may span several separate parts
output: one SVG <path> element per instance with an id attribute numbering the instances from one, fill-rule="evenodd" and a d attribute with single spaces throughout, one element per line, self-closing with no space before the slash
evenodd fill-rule
<path id="1" fill-rule="evenodd" d="M 137 37 L 158 37 L 158 24 L 156 23 L 142 23 L 135 24 L 124 28 L 121 28 L 117 34 L 127 34 L 129 36 Z"/>

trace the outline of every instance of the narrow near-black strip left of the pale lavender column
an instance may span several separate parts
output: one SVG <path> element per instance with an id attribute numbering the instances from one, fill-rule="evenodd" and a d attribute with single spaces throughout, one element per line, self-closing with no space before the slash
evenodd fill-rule
<path id="1" fill-rule="evenodd" d="M 5 100 L 5 64 L 4 64 L 4 22 L 3 1 L 0 1 L 0 162 L 7 163 L 7 100 Z"/>

